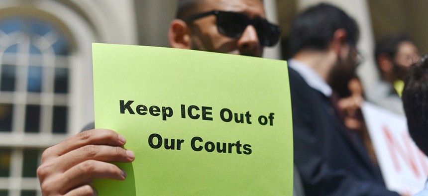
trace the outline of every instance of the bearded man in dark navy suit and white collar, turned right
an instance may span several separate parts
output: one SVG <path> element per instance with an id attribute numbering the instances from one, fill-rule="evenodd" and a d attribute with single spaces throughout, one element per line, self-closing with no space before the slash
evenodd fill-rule
<path id="1" fill-rule="evenodd" d="M 354 19 L 324 3 L 300 13 L 292 25 L 294 163 L 309 196 L 399 195 L 386 189 L 360 135 L 343 123 L 337 93 L 327 83 L 336 69 L 353 73 L 358 33 Z"/>

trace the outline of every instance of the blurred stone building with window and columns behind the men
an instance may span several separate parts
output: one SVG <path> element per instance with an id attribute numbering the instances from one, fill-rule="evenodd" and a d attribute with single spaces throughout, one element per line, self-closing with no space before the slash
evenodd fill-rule
<path id="1" fill-rule="evenodd" d="M 427 0 L 322 0 L 343 8 L 360 26 L 364 86 L 378 80 L 375 40 L 412 36 L 428 51 Z M 178 0 L 0 0 L 0 196 L 40 196 L 41 152 L 94 120 L 92 42 L 168 47 Z M 321 0 L 264 0 L 283 28 L 265 50 L 288 58 L 296 14 Z"/>

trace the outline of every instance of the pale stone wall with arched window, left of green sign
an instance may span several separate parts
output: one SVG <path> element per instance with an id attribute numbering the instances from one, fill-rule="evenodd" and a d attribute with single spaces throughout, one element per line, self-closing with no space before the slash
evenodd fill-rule
<path id="1" fill-rule="evenodd" d="M 137 44 L 134 0 L 0 0 L 0 196 L 40 196 L 41 153 L 94 121 L 92 42 Z"/>

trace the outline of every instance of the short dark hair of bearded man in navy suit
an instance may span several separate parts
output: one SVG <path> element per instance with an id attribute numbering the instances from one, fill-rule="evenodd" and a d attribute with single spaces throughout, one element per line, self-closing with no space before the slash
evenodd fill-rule
<path id="1" fill-rule="evenodd" d="M 346 41 L 356 45 L 358 25 L 343 10 L 326 3 L 309 7 L 293 22 L 289 44 L 291 54 L 295 55 L 302 49 L 326 49 L 338 29 L 344 29 Z"/>

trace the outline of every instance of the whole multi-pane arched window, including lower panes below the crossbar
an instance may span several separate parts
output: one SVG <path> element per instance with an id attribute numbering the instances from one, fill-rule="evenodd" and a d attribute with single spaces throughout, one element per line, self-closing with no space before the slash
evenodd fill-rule
<path id="1" fill-rule="evenodd" d="M 0 18 L 0 133 L 65 137 L 71 53 L 70 38 L 49 20 Z M 36 169 L 41 152 L 25 143 L 0 147 L 0 184 L 8 187 L 0 187 L 0 196 L 39 194 Z"/>

